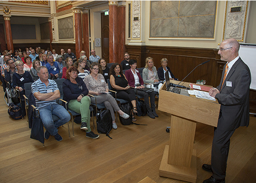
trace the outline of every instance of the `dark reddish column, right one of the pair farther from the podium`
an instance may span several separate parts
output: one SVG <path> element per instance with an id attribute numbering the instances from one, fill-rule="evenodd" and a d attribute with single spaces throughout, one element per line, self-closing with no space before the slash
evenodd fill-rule
<path id="1" fill-rule="evenodd" d="M 86 57 L 89 58 L 89 15 L 88 10 L 82 11 L 82 23 L 83 23 L 83 50 L 86 52 Z"/>

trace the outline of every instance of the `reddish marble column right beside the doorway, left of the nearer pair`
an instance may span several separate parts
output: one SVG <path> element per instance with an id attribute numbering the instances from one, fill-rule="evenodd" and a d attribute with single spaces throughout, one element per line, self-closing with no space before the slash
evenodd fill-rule
<path id="1" fill-rule="evenodd" d="M 118 62 L 117 1 L 109 1 L 109 62 Z"/>

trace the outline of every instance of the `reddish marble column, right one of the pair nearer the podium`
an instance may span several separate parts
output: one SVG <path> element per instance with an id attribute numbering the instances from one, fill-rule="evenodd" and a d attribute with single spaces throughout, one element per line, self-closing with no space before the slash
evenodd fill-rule
<path id="1" fill-rule="evenodd" d="M 118 63 L 123 60 L 125 52 L 125 8 L 126 1 L 118 1 Z"/>

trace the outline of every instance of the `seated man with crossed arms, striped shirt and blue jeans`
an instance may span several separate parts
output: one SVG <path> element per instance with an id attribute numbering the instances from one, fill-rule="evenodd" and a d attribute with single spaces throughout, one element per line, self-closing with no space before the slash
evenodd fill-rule
<path id="1" fill-rule="evenodd" d="M 56 99 L 60 97 L 59 89 L 54 80 L 48 80 L 46 66 L 40 66 L 37 71 L 39 80 L 31 85 L 31 89 L 36 99 L 40 118 L 46 129 L 44 137 L 48 139 L 52 135 L 57 141 L 61 141 L 62 137 L 58 134 L 57 128 L 69 122 L 70 115 L 62 105 L 56 102 Z M 59 120 L 53 121 L 52 115 L 57 116 Z"/>

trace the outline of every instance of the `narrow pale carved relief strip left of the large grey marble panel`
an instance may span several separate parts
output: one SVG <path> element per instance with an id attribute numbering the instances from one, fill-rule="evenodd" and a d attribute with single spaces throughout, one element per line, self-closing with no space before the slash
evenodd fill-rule
<path id="1" fill-rule="evenodd" d="M 134 20 L 138 17 L 138 20 Z M 132 38 L 140 39 L 141 32 L 141 1 L 133 1 L 133 16 L 132 16 Z"/>

